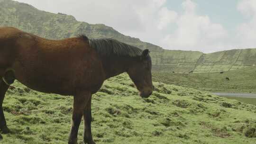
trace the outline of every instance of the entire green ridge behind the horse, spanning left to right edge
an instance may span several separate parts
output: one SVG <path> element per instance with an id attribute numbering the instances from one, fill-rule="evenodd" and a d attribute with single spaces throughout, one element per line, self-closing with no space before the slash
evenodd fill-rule
<path id="1" fill-rule="evenodd" d="M 256 64 L 256 49 L 229 50 L 212 54 L 165 50 L 138 38 L 120 34 L 103 24 L 91 25 L 73 16 L 41 11 L 31 5 L 12 0 L 0 0 L 0 26 L 18 27 L 29 33 L 50 39 L 85 34 L 91 38 L 114 38 L 151 51 L 153 71 L 157 72 L 221 72 Z"/>

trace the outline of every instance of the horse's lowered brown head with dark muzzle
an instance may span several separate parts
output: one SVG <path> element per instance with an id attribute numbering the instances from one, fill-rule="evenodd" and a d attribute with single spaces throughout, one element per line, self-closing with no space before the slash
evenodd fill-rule
<path id="1" fill-rule="evenodd" d="M 128 75 L 143 98 L 148 98 L 153 91 L 151 76 L 151 57 L 148 49 L 144 50 L 137 62 L 128 69 Z"/>

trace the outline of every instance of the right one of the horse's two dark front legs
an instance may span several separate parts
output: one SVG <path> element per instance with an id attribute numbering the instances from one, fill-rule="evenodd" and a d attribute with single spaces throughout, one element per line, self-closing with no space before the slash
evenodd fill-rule
<path id="1" fill-rule="evenodd" d="M 83 141 L 85 144 L 96 144 L 92 140 L 91 121 L 92 121 L 92 117 L 91 117 L 91 97 L 90 97 L 90 100 L 86 104 L 83 111 L 83 122 L 84 122 Z"/>

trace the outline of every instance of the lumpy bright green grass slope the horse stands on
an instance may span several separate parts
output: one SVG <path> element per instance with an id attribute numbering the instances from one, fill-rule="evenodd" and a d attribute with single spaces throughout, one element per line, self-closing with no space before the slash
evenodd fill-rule
<path id="1" fill-rule="evenodd" d="M 256 106 L 206 91 L 154 82 L 148 99 L 126 74 L 106 81 L 92 99 L 97 144 L 256 144 Z M 20 83 L 3 108 L 12 134 L 0 144 L 66 144 L 72 97 L 45 94 Z M 79 144 L 82 144 L 81 124 Z"/>

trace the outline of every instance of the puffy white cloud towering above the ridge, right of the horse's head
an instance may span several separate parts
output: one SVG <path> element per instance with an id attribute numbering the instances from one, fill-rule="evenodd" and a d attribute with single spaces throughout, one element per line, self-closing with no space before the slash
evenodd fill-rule
<path id="1" fill-rule="evenodd" d="M 208 16 L 197 14 L 197 4 L 191 0 L 182 3 L 183 13 L 175 24 L 177 29 L 162 40 L 168 49 L 197 50 L 212 52 L 222 50 L 223 39 L 228 32 L 220 25 L 210 21 Z"/>

